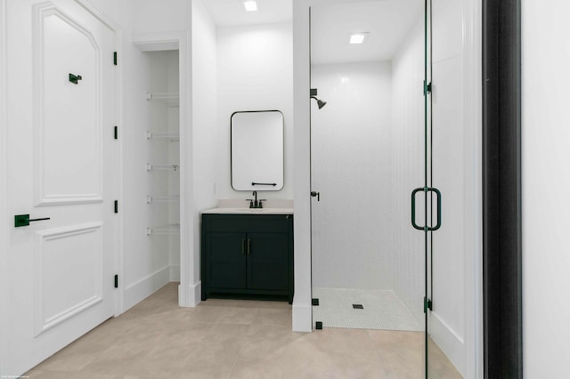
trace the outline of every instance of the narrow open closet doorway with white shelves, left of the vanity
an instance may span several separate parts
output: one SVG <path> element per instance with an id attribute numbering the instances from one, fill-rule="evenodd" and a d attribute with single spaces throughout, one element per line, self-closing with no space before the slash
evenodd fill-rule
<path id="1" fill-rule="evenodd" d="M 133 127 L 125 130 L 123 149 L 129 151 L 124 181 L 124 240 L 129 243 L 124 255 L 124 309 L 129 309 L 168 282 L 184 278 L 183 202 L 185 200 L 183 163 L 185 119 L 183 37 L 173 35 L 134 35 L 139 52 L 134 59 L 134 103 L 141 109 Z M 136 252 L 136 254 L 133 254 Z M 140 262 L 146 262 L 142 267 Z M 142 279 L 137 276 L 144 275 Z M 133 279 L 136 278 L 136 279 Z M 185 296 L 179 296 L 184 304 Z"/>

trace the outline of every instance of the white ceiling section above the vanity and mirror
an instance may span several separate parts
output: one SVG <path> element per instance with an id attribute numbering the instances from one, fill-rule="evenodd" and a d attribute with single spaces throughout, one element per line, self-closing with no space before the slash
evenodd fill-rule
<path id="1" fill-rule="evenodd" d="M 204 0 L 218 27 L 273 24 L 293 20 L 292 0 L 256 0 L 257 12 L 246 12 L 243 0 Z"/>

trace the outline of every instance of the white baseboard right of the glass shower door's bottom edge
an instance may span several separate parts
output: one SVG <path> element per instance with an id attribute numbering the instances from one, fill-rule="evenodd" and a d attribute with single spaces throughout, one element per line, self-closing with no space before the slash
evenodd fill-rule
<path id="1" fill-rule="evenodd" d="M 429 331 L 431 338 L 437 346 L 457 368 L 461 375 L 465 376 L 465 343 L 451 327 L 445 324 L 435 312 L 429 315 Z"/>

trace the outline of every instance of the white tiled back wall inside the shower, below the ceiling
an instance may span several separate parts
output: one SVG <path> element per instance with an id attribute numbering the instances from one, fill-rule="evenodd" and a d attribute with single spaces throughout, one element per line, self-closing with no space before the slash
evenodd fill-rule
<path id="1" fill-rule="evenodd" d="M 313 286 L 392 289 L 389 61 L 313 65 Z"/>

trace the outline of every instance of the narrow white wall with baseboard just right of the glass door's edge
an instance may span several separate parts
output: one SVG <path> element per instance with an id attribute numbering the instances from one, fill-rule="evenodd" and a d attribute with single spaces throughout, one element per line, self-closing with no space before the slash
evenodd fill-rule
<path id="1" fill-rule="evenodd" d="M 454 0 L 433 4 L 433 185 L 442 192 L 442 227 L 434 233 L 433 340 L 465 371 L 465 262 L 473 245 L 469 198 L 473 134 L 464 121 L 463 6 Z M 473 206 L 475 208 L 475 206 Z"/>

